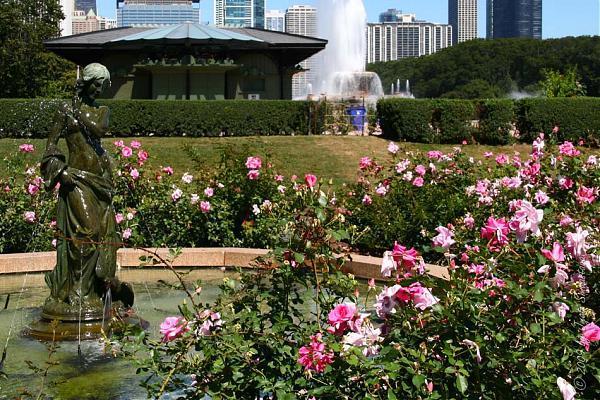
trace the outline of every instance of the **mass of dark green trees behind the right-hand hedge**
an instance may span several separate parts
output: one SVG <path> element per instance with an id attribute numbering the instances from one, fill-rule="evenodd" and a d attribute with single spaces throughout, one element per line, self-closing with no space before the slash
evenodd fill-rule
<path id="1" fill-rule="evenodd" d="M 600 37 L 469 40 L 433 55 L 369 64 L 383 87 L 409 79 L 419 98 L 489 98 L 526 90 L 544 70 L 575 68 L 589 96 L 600 96 Z"/>

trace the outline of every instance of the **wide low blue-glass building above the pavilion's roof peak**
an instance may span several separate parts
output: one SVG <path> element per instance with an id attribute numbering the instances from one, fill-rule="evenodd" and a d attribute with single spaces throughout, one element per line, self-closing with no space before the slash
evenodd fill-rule
<path id="1" fill-rule="evenodd" d="M 198 0 L 117 0 L 117 26 L 160 26 L 200 22 Z"/>

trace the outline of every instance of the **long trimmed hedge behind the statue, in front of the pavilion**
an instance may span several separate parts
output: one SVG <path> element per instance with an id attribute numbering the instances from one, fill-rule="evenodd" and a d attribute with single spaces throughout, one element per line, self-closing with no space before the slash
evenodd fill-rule
<path id="1" fill-rule="evenodd" d="M 115 136 L 306 135 L 322 117 L 306 101 L 101 100 Z M 46 137 L 58 100 L 0 100 L 1 137 Z"/>

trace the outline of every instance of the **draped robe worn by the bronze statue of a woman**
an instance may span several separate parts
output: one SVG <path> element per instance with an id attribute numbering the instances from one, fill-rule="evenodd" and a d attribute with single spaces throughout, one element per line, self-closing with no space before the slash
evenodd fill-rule
<path id="1" fill-rule="evenodd" d="M 52 298 L 76 304 L 80 294 L 86 301 L 101 297 L 106 279 L 115 276 L 118 236 L 110 158 L 101 147 L 94 149 L 82 126 L 61 123 L 60 118 L 59 129 L 70 156 L 74 151 L 81 152 L 79 157 L 99 166 L 95 173 L 77 169 L 50 142 L 41 164 L 47 190 L 56 186 L 65 170 L 73 180 L 72 185 L 61 185 L 58 192 L 57 262 L 54 270 L 46 274 L 46 283 Z"/>

